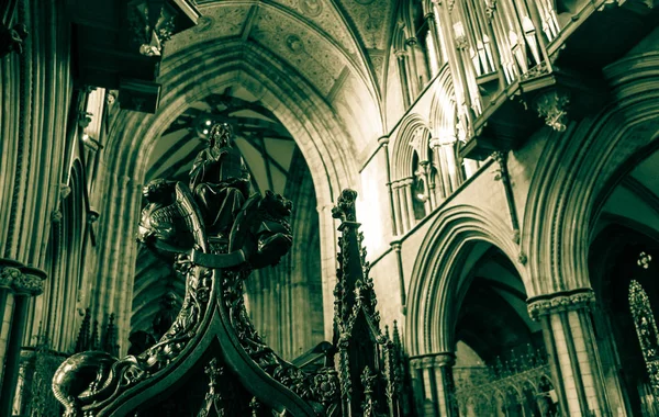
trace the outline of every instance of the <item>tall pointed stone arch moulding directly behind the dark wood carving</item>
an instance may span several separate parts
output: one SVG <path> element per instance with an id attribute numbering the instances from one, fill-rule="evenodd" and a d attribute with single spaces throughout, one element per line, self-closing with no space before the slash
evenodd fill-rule
<path id="1" fill-rule="evenodd" d="M 349 138 L 332 109 L 294 71 L 287 71 L 281 63 L 258 46 L 231 42 L 198 45 L 165 61 L 163 74 L 163 83 L 172 87 L 164 91 L 157 114 L 125 112 L 116 117 L 105 146 L 107 155 L 112 158 L 107 162 L 111 174 L 100 179 L 96 195 L 102 207 L 101 215 L 108 218 L 101 234 L 108 239 L 109 250 L 98 266 L 101 280 L 92 307 L 119 312 L 120 320 L 125 320 L 119 326 L 121 329 L 130 328 L 130 288 L 136 256 L 136 246 L 130 243 L 137 223 L 149 153 L 164 129 L 190 103 L 241 84 L 258 97 L 288 128 L 311 169 L 325 263 L 334 259 L 335 230 L 330 207 L 338 190 L 356 183 L 356 153 L 345 145 L 351 140 L 346 140 Z M 132 249 L 126 249 L 130 247 Z M 323 291 L 331 297 L 334 278 L 330 271 L 334 271 L 334 266 L 327 263 L 323 268 L 326 271 Z M 112 291 L 116 289 L 121 291 Z M 115 298 L 105 301 L 104 292 L 115 294 Z M 325 306 L 325 322 L 332 323 L 331 305 Z"/>

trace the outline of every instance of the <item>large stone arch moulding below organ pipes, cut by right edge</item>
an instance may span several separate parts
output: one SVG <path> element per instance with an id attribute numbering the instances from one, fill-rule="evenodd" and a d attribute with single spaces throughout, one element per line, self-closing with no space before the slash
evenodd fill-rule
<path id="1" fill-rule="evenodd" d="M 597 115 L 551 133 L 532 178 L 522 250 L 536 295 L 590 288 L 588 251 L 597 202 L 627 161 L 659 135 L 659 53 L 610 65 L 611 100 Z M 533 236 L 533 239 L 529 237 Z"/>

